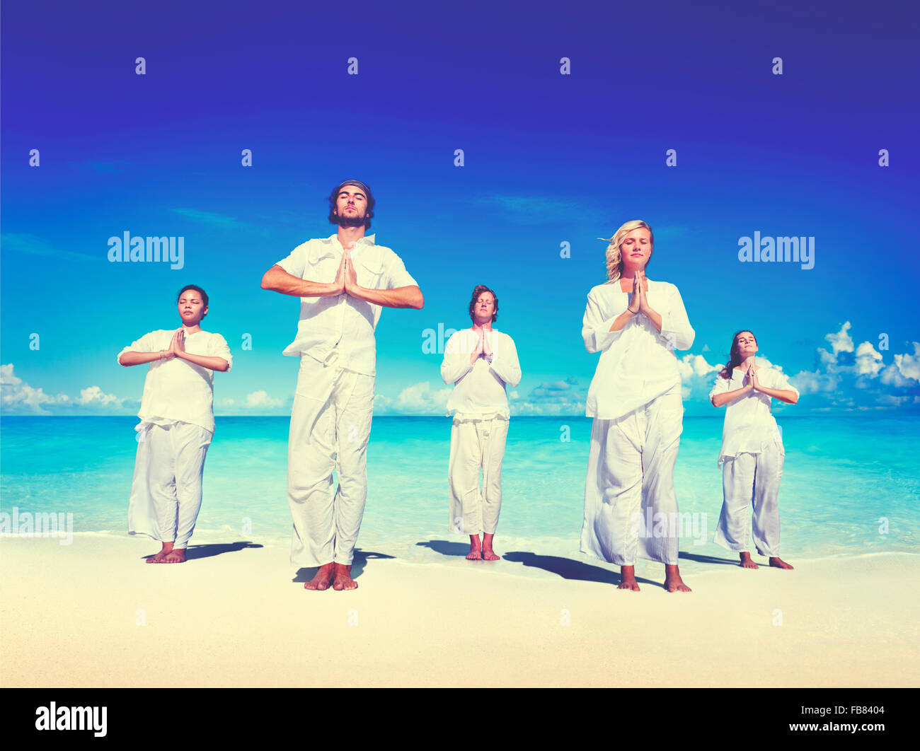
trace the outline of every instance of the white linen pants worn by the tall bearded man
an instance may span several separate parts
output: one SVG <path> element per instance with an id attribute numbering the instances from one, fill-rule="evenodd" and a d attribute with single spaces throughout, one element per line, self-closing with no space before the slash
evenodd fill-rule
<path id="1" fill-rule="evenodd" d="M 335 358 L 332 364 L 301 359 L 288 438 L 294 565 L 351 565 L 367 499 L 373 413 L 373 376 L 342 370 Z"/>

